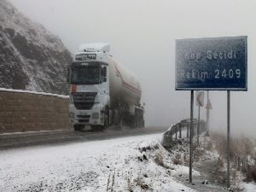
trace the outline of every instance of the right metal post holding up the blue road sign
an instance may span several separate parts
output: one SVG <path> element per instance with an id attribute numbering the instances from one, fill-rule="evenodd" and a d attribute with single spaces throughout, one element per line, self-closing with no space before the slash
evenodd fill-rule
<path id="1" fill-rule="evenodd" d="M 228 111 L 228 122 L 227 122 L 227 185 L 230 188 L 230 90 L 227 92 L 227 111 Z"/>

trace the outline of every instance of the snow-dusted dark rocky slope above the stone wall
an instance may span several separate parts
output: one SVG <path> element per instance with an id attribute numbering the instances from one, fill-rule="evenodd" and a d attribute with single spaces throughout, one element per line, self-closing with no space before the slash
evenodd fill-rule
<path id="1" fill-rule="evenodd" d="M 0 88 L 67 94 L 71 61 L 60 38 L 0 1 Z"/>

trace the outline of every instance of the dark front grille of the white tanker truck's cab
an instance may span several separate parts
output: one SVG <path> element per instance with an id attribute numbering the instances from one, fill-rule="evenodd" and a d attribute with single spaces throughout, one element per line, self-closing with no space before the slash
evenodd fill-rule
<path id="1" fill-rule="evenodd" d="M 96 92 L 73 93 L 73 103 L 75 108 L 80 110 L 90 110 L 93 106 Z"/>

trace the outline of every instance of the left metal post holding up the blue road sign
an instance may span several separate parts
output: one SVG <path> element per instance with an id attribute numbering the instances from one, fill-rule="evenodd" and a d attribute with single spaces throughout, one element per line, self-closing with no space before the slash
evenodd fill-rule
<path id="1" fill-rule="evenodd" d="M 193 146 L 192 146 L 192 132 L 193 132 L 193 107 L 194 107 L 194 90 L 191 90 L 190 96 L 190 134 L 189 134 L 189 183 L 192 183 L 192 158 L 193 158 Z"/>

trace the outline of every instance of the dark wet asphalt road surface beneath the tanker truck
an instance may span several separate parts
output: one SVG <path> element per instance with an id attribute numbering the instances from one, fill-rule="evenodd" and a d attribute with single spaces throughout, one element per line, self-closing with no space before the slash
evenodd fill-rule
<path id="1" fill-rule="evenodd" d="M 37 145 L 76 143 L 117 137 L 139 136 L 166 131 L 167 127 L 152 126 L 145 128 L 108 128 L 104 131 L 38 131 L 13 134 L 0 134 L 0 150 L 23 148 Z"/>

